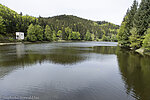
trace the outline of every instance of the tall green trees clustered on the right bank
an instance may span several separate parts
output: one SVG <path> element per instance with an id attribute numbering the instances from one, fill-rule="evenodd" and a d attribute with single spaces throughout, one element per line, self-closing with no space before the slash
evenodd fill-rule
<path id="1" fill-rule="evenodd" d="M 150 0 L 138 2 L 127 10 L 118 32 L 118 42 L 122 47 L 150 50 Z"/>

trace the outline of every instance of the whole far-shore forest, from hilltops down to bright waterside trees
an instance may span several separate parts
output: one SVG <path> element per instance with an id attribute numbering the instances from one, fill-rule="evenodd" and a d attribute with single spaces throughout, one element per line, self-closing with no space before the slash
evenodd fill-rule
<path id="1" fill-rule="evenodd" d="M 119 25 L 106 21 L 96 22 L 73 15 L 32 17 L 0 4 L 0 41 L 13 41 L 15 32 L 24 32 L 27 41 L 117 41 L 118 30 Z"/>

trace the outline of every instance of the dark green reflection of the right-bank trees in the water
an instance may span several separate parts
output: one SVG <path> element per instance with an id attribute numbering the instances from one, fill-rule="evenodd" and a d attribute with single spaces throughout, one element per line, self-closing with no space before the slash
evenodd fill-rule
<path id="1" fill-rule="evenodd" d="M 150 57 L 118 50 L 118 63 L 127 94 L 150 100 Z"/>

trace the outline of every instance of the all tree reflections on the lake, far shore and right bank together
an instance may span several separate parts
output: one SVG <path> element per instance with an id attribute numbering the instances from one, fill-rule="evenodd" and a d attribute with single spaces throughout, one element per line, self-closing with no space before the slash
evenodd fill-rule
<path id="1" fill-rule="evenodd" d="M 116 55 L 126 93 L 150 100 L 150 57 L 115 46 L 10 45 L 0 47 L 0 78 L 20 67 L 37 63 L 75 65 L 90 60 L 91 54 Z M 98 56 L 99 57 L 99 56 Z M 101 57 L 101 56 L 100 56 Z"/>

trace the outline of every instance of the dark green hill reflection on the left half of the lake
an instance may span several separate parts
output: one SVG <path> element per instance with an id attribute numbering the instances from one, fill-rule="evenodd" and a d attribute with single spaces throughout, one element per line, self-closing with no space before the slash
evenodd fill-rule
<path id="1" fill-rule="evenodd" d="M 9 51 L 3 52 L 3 54 L 1 54 L 3 60 L 0 62 L 0 66 L 30 66 L 45 61 L 65 65 L 74 64 L 85 59 L 81 55 L 78 55 L 76 52 L 73 52 L 71 55 L 73 49 L 56 48 L 51 49 L 48 52 L 34 52 L 28 49 L 25 51 L 23 48 L 19 50 L 18 48 L 20 47 L 20 45 L 16 45 L 16 51 L 14 50 L 12 53 L 6 54 L 5 52 Z"/>

